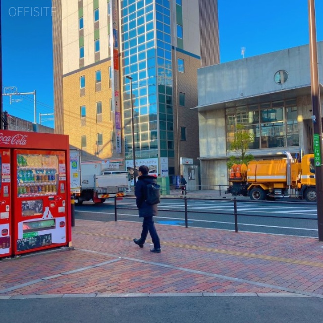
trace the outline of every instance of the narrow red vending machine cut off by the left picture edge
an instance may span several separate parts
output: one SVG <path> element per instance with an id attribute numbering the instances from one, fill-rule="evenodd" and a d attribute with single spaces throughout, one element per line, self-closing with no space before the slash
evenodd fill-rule
<path id="1" fill-rule="evenodd" d="M 0 258 L 12 253 L 10 149 L 0 149 Z"/>

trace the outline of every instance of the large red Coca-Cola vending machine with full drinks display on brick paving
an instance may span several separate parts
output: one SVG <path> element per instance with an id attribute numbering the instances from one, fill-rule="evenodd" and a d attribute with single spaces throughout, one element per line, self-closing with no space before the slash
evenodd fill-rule
<path id="1" fill-rule="evenodd" d="M 2 149 L 3 146 L 8 148 Z M 18 255 L 71 246 L 69 137 L 2 130 L 0 149 L 1 198 L 6 186 L 11 198 L 8 197 L 8 203 L 5 198 L 2 200 L 8 204 L 4 207 L 9 212 L 4 216 L 8 217 L 7 223 L 3 224 L 9 227 L 8 253 Z M 5 150 L 9 154 L 7 160 Z M 1 204 L 1 212 L 2 209 Z"/>

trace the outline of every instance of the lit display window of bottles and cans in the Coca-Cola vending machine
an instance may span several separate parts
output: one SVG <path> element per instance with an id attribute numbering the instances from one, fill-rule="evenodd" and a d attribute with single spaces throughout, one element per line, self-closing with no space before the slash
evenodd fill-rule
<path id="1" fill-rule="evenodd" d="M 18 197 L 57 195 L 57 155 L 17 154 Z"/>

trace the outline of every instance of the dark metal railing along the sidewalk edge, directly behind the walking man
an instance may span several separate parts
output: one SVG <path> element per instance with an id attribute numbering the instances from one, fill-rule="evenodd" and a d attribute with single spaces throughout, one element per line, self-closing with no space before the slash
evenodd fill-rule
<path id="1" fill-rule="evenodd" d="M 123 200 L 134 200 L 135 197 L 124 197 Z M 235 224 L 235 232 L 238 232 L 238 217 L 255 217 L 255 218 L 277 218 L 277 219 L 295 219 L 295 220 L 316 220 L 317 218 L 309 218 L 309 217 L 285 217 L 285 216 L 268 216 L 268 215 L 261 215 L 261 214 L 246 214 L 246 213 L 239 213 L 238 212 L 238 203 L 239 202 L 246 202 L 246 200 L 238 200 L 236 197 L 233 199 L 220 199 L 220 198 L 208 198 L 207 200 L 218 200 L 224 203 L 233 203 L 233 212 L 224 212 L 224 211 L 203 211 L 203 210 L 198 210 L 194 211 L 189 209 L 188 200 L 205 200 L 205 198 L 188 198 L 187 196 L 184 196 L 182 198 L 176 198 L 176 197 L 168 197 L 168 198 L 163 198 L 161 197 L 161 200 L 180 200 L 184 202 L 184 210 L 178 210 L 178 209 L 170 209 L 170 208 L 163 208 L 162 204 L 158 207 L 158 211 L 168 211 L 168 212 L 174 212 L 178 213 L 184 212 L 185 215 L 185 228 L 188 228 L 188 214 L 189 213 L 203 213 L 203 214 L 221 214 L 221 215 L 227 215 L 227 216 L 233 216 L 234 217 L 234 224 Z M 262 203 L 268 203 L 268 204 L 273 204 L 273 203 L 297 203 L 297 204 L 304 204 L 308 205 L 308 202 L 289 202 L 289 201 L 261 201 Z M 248 203 L 259 203 L 259 201 L 253 201 L 253 200 L 248 200 Z M 129 210 L 138 210 L 137 207 L 118 207 L 117 203 L 117 197 L 115 197 L 115 221 L 117 221 L 117 216 L 118 216 L 118 209 L 129 209 Z"/>

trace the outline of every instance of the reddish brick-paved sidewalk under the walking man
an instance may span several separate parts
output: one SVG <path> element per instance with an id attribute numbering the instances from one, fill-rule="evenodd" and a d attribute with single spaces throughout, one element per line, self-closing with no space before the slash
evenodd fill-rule
<path id="1" fill-rule="evenodd" d="M 323 243 L 317 239 L 156 228 L 159 254 L 149 252 L 150 239 L 143 249 L 133 243 L 141 231 L 139 223 L 76 220 L 74 250 L 0 261 L 0 299 L 120 293 L 288 293 L 323 298 Z"/>

